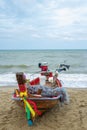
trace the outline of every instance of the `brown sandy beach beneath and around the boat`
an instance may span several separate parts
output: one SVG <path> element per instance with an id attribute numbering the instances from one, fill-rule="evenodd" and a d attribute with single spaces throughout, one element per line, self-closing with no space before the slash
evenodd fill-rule
<path id="1" fill-rule="evenodd" d="M 87 130 L 87 89 L 67 89 L 70 103 L 56 105 L 29 127 L 25 112 L 11 99 L 14 88 L 0 88 L 0 130 Z"/>

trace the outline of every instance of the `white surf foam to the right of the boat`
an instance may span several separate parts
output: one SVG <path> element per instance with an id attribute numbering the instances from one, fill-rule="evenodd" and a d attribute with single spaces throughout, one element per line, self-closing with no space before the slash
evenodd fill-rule
<path id="1" fill-rule="evenodd" d="M 87 88 L 87 74 L 61 74 L 59 78 L 68 88 Z"/>

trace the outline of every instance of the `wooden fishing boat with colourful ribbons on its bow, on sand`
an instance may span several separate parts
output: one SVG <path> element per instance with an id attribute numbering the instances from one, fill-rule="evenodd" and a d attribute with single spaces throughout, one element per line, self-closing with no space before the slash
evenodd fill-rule
<path id="1" fill-rule="evenodd" d="M 40 77 L 29 81 L 23 72 L 18 72 L 16 73 L 18 88 L 12 95 L 12 99 L 25 109 L 30 126 L 37 116 L 41 116 L 58 103 L 67 100 L 67 93 L 61 83 L 60 86 L 54 87 L 54 84 L 49 81 L 49 78 L 53 78 L 53 73 L 48 71 L 48 66 L 39 63 L 39 67 L 41 75 L 46 76 L 45 84 L 41 85 Z"/>

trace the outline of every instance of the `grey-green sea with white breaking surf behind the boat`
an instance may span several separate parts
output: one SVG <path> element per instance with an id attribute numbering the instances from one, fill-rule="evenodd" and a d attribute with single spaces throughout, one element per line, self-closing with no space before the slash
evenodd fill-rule
<path id="1" fill-rule="evenodd" d="M 63 86 L 87 88 L 87 50 L 0 50 L 0 87 L 17 86 L 17 72 L 30 80 L 40 76 L 38 65 L 43 62 L 53 74 L 60 64 L 70 65 L 59 72 Z"/>

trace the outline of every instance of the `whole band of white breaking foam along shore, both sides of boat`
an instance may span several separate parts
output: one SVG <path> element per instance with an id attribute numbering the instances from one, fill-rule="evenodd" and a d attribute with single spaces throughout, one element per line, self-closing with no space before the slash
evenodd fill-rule
<path id="1" fill-rule="evenodd" d="M 40 77 L 44 83 L 45 77 L 40 74 L 25 74 L 27 79 Z M 62 80 L 63 86 L 67 88 L 87 88 L 87 74 L 59 74 L 59 79 Z M 0 86 L 17 85 L 16 76 L 13 73 L 0 74 Z"/>

